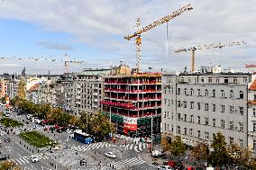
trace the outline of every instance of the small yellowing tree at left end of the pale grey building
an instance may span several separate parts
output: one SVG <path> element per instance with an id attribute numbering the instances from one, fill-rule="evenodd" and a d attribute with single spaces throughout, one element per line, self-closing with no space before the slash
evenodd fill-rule
<path id="1" fill-rule="evenodd" d="M 186 153 L 186 145 L 181 140 L 180 136 L 177 136 L 170 144 L 170 152 L 173 156 L 184 156 Z"/>

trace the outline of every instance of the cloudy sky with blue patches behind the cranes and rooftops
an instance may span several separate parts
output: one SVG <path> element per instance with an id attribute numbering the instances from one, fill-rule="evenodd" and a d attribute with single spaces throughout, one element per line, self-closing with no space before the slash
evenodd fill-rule
<path id="1" fill-rule="evenodd" d="M 63 73 L 63 62 L 16 58 L 69 58 L 85 60 L 70 65 L 109 67 L 120 61 L 135 67 L 133 31 L 136 18 L 142 26 L 192 4 L 193 10 L 142 34 L 142 68 L 157 71 L 190 69 L 190 53 L 180 48 L 244 40 L 247 44 L 196 51 L 196 67 L 222 65 L 244 69 L 256 64 L 255 0 L 5 0 L 0 2 L 0 73 Z M 167 51 L 168 41 L 168 53 Z"/>

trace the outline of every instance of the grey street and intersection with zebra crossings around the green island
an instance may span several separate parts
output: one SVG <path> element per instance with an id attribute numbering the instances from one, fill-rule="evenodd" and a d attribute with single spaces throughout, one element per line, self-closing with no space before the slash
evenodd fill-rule
<path id="1" fill-rule="evenodd" d="M 11 113 L 11 119 L 21 122 L 23 120 L 29 121 L 24 115 L 17 115 L 15 112 Z M 63 148 L 54 150 L 52 153 L 46 149 L 33 148 L 16 136 L 20 130 L 15 129 L 16 134 L 10 133 L 8 135 L 11 139 L 10 143 L 5 143 L 5 137 L 1 137 L 2 154 L 10 155 L 10 159 L 23 169 L 155 169 L 142 157 L 147 154 L 145 143 L 127 143 L 125 145 L 124 141 L 119 139 L 116 144 L 98 142 L 86 145 L 69 138 L 69 134 L 65 131 L 61 133 L 56 131 L 51 133 L 50 130 L 44 131 L 41 125 L 32 121 L 29 121 L 29 124 L 25 123 L 21 130 L 32 130 L 35 126 L 37 131 L 57 140 Z M 117 157 L 105 157 L 105 153 L 110 151 L 114 152 Z M 29 160 L 32 155 L 38 156 L 39 162 L 32 163 Z M 80 166 L 80 160 L 83 158 L 87 164 Z"/>

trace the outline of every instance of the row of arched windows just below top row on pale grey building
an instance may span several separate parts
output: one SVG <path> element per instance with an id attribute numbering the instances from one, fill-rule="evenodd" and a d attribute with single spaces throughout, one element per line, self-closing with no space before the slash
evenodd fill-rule
<path id="1" fill-rule="evenodd" d="M 184 89 L 183 89 L 183 92 L 184 92 L 185 95 L 190 95 L 190 96 L 191 96 L 191 95 L 194 95 L 194 89 L 193 89 L 193 88 L 190 88 L 190 91 L 189 91 L 187 88 L 184 88 Z M 220 92 L 221 92 L 221 97 L 222 97 L 222 98 L 225 98 L 226 96 L 225 96 L 224 90 L 221 90 Z M 178 94 L 178 95 L 181 94 L 181 89 L 180 89 L 180 88 L 178 88 L 177 94 Z M 197 96 L 203 96 L 203 95 L 201 94 L 201 89 L 197 89 Z M 211 95 L 209 95 L 209 90 L 206 89 L 205 92 L 204 92 L 204 96 L 215 97 L 215 96 L 216 96 L 216 91 L 215 91 L 215 89 L 212 90 Z M 229 98 L 234 98 L 233 90 L 230 90 L 230 91 L 229 91 Z M 238 96 L 238 98 L 239 98 L 239 99 L 243 99 L 243 92 L 242 92 L 242 91 L 239 91 L 239 96 Z"/>

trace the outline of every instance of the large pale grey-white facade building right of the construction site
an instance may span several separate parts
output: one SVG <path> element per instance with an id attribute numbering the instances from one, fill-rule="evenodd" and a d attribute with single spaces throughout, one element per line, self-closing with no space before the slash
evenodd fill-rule
<path id="1" fill-rule="evenodd" d="M 210 143 L 220 131 L 228 144 L 247 146 L 251 143 L 247 138 L 251 130 L 248 85 L 255 76 L 204 71 L 163 74 L 163 136 L 181 136 L 193 146 L 197 141 Z"/>

